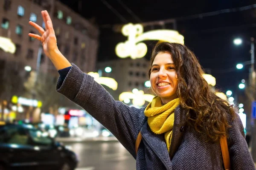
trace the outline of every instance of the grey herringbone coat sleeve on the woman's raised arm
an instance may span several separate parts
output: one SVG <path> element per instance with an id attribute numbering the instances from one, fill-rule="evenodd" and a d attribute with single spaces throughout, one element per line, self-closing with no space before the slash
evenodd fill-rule
<path id="1" fill-rule="evenodd" d="M 56 89 L 110 130 L 135 157 L 135 141 L 144 108 L 129 107 L 115 101 L 102 85 L 73 63 L 64 81 L 58 79 Z"/>

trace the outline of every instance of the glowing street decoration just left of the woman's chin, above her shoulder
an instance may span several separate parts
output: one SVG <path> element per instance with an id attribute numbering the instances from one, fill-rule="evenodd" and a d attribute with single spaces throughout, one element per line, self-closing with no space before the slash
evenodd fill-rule
<path id="1" fill-rule="evenodd" d="M 132 104 L 135 106 L 143 106 L 145 101 L 151 102 L 153 98 L 154 95 L 144 94 L 144 91 L 137 91 L 136 93 L 123 92 L 119 95 L 120 101 L 124 101 L 125 99 L 133 99 Z"/>

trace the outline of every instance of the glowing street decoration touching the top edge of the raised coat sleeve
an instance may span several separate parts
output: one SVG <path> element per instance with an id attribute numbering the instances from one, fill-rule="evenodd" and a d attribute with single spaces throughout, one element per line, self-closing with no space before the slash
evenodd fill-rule
<path id="1" fill-rule="evenodd" d="M 106 85 L 109 88 L 112 88 L 114 91 L 117 89 L 118 84 L 115 79 L 112 79 L 110 77 L 99 77 L 99 74 L 94 73 L 94 72 L 89 72 L 87 74 L 89 74 L 91 77 L 93 77 L 97 83 Z"/>

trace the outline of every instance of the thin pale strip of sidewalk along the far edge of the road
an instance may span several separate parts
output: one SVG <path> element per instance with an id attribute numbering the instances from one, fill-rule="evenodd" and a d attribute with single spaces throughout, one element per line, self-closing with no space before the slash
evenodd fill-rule
<path id="1" fill-rule="evenodd" d="M 57 137 L 55 138 L 58 142 L 118 142 L 116 137 L 110 136 L 110 137 L 104 137 L 104 136 L 98 136 L 98 137 Z"/>

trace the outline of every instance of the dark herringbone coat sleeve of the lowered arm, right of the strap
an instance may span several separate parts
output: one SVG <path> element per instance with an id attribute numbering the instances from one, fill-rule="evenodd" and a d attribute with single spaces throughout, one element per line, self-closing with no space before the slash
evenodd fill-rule
<path id="1" fill-rule="evenodd" d="M 238 114 L 231 122 L 227 139 L 232 170 L 255 170 L 252 156 L 245 141 L 244 127 Z"/>

